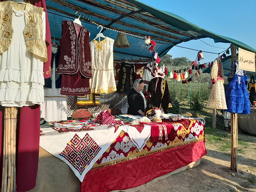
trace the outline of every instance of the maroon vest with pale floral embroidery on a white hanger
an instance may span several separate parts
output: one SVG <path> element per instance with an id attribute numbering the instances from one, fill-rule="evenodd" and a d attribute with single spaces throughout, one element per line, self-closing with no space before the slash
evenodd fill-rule
<path id="1" fill-rule="evenodd" d="M 60 59 L 58 73 L 75 74 L 80 70 L 82 76 L 92 78 L 89 32 L 81 26 L 79 35 L 73 21 L 62 21 L 60 40 Z"/>

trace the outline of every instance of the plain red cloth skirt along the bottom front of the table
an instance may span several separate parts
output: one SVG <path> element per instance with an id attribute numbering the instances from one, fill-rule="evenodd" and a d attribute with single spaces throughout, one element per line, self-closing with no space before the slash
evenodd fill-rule
<path id="1" fill-rule="evenodd" d="M 199 141 L 90 170 L 81 183 L 81 192 L 109 192 L 140 186 L 197 161 L 205 154 L 204 141 Z"/>

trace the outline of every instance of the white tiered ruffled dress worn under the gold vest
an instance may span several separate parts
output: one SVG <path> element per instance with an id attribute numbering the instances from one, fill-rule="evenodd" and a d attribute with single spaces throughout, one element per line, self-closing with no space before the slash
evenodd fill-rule
<path id="1" fill-rule="evenodd" d="M 0 54 L 0 105 L 6 107 L 44 103 L 44 63 L 26 49 L 24 13 L 13 8 L 12 42 L 9 49 Z M 42 22 L 45 41 L 45 12 Z"/>

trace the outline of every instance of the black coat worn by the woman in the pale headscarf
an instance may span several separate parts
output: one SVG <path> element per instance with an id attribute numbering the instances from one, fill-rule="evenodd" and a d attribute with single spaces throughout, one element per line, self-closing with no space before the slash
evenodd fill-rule
<path id="1" fill-rule="evenodd" d="M 134 88 L 128 94 L 128 105 L 128 115 L 140 115 L 139 110 L 144 113 L 144 99 Z"/>

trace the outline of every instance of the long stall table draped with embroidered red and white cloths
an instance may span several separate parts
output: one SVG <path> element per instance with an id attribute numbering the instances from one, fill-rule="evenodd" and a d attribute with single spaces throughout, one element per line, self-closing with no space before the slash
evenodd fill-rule
<path id="1" fill-rule="evenodd" d="M 167 120 L 152 125 L 101 125 L 87 130 L 79 128 L 77 131 L 56 128 L 41 130 L 45 135 L 41 136 L 37 186 L 33 192 L 46 191 L 46 188 L 52 192 L 130 189 L 175 170 L 185 170 L 190 163 L 198 162 L 207 154 L 204 119 L 199 118 L 175 122 Z M 101 139 L 102 133 L 106 137 Z M 108 145 L 107 141 L 113 135 L 115 139 Z M 82 136 L 84 142 L 80 141 Z M 162 142 L 151 142 L 150 136 Z M 70 152 L 71 148 L 77 151 Z M 85 153 L 85 150 L 89 152 Z"/>

